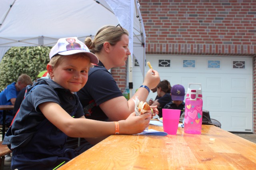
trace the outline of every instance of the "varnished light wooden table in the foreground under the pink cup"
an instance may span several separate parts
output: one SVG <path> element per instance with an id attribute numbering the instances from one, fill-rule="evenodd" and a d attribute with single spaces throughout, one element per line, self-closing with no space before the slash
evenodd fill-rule
<path id="1" fill-rule="evenodd" d="M 163 131 L 163 127 L 149 128 Z M 58 170 L 255 169 L 256 144 L 213 125 L 202 134 L 111 135 Z"/>

